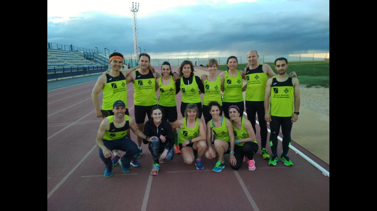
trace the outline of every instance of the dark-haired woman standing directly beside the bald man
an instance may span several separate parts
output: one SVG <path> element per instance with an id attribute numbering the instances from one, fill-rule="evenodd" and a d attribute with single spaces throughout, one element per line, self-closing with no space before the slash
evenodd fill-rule
<path id="1" fill-rule="evenodd" d="M 244 115 L 244 96 L 242 95 L 242 79 L 245 79 L 245 72 L 237 70 L 238 60 L 235 56 L 229 56 L 227 60 L 228 70 L 220 74 L 222 76 L 221 91 L 222 108 L 228 111 L 229 106 L 236 105 L 240 109 L 241 117 Z M 224 112 L 225 117 L 229 118 L 229 114 Z"/>

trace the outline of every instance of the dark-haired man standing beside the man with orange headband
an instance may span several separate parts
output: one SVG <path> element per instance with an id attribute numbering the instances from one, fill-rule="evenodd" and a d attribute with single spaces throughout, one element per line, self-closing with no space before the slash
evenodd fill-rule
<path id="1" fill-rule="evenodd" d="M 148 120 L 150 120 L 150 109 L 157 105 L 157 95 L 158 84 L 156 84 L 156 78 L 161 77 L 158 71 L 152 73 L 148 68 L 150 66 L 150 56 L 147 53 L 139 54 L 139 64 L 140 69 L 131 72 L 127 76 L 127 80 L 133 82 L 133 98 L 135 105 L 135 123 L 136 127 L 140 130 L 144 130 L 145 116 L 147 115 Z M 139 158 L 143 154 L 141 149 L 142 138 L 137 138 L 138 153 L 136 153 L 135 158 Z"/>

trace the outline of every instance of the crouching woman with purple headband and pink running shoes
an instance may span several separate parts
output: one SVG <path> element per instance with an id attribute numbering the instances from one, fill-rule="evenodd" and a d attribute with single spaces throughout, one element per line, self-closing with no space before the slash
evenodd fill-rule
<path id="1" fill-rule="evenodd" d="M 233 125 L 234 138 L 236 139 L 234 145 L 234 157 L 236 159 L 235 165 L 230 165 L 234 170 L 238 170 L 242 165 L 242 158 L 247 156 L 249 159 L 249 171 L 255 170 L 254 154 L 258 151 L 258 144 L 255 139 L 255 133 L 251 122 L 244 117 L 241 117 L 240 109 L 236 105 L 229 106 L 228 114 Z"/>

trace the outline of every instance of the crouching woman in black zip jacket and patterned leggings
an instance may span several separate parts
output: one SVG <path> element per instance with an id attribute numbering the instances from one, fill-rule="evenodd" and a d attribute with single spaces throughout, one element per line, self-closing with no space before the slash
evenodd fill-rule
<path id="1" fill-rule="evenodd" d="M 174 135 L 172 127 L 167 120 L 162 119 L 162 109 L 159 106 L 154 106 L 150 110 L 151 119 L 144 124 L 144 134 L 148 137 L 156 136 L 152 138 L 150 142 L 146 139 L 143 140 L 144 144 L 149 144 L 148 149 L 152 153 L 153 169 L 150 172 L 151 175 L 158 175 L 159 163 L 171 161 L 174 156 Z"/>

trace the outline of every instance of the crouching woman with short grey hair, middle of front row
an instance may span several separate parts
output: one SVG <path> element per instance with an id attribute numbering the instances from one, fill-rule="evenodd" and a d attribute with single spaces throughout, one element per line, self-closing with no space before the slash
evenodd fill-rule
<path id="1" fill-rule="evenodd" d="M 207 150 L 205 143 L 205 126 L 203 120 L 198 118 L 198 106 L 189 103 L 184 112 L 185 117 L 173 122 L 172 128 L 179 128 L 179 148 L 183 161 L 190 165 L 195 160 L 194 150 L 197 151 L 195 165 L 198 170 L 203 169 L 202 155 Z"/>

